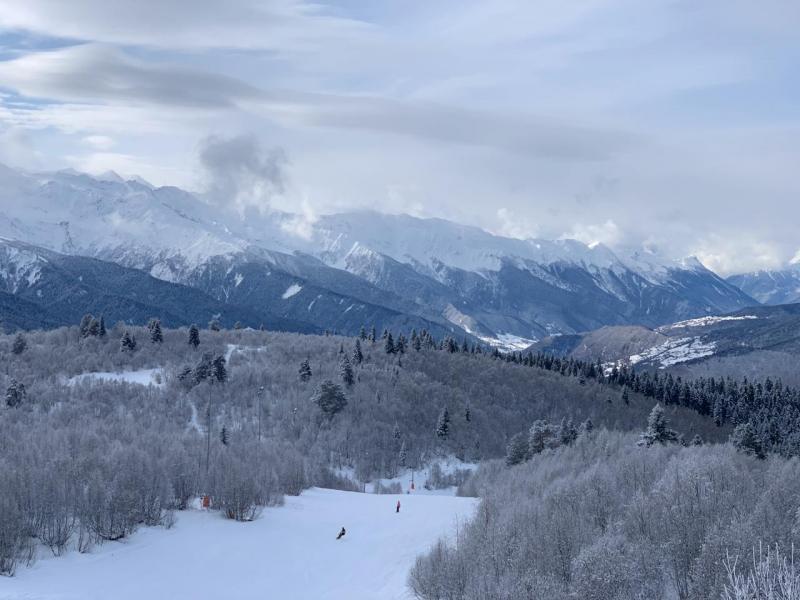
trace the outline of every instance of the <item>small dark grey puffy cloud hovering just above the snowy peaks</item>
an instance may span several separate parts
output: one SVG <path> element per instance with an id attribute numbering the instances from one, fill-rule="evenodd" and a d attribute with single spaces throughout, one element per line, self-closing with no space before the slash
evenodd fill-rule
<path id="1" fill-rule="evenodd" d="M 254 135 L 210 136 L 200 142 L 200 163 L 208 178 L 208 197 L 239 210 L 268 209 L 288 180 L 282 148 L 264 149 Z"/>

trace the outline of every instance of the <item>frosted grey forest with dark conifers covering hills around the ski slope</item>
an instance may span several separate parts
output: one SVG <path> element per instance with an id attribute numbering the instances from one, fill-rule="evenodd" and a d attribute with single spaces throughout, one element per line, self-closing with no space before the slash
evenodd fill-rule
<path id="1" fill-rule="evenodd" d="M 605 556 L 602 544 L 617 544 L 621 556 L 655 547 L 665 555 L 663 532 L 646 539 L 630 533 L 635 498 L 642 511 L 651 504 L 656 510 L 653 494 L 671 497 L 662 483 L 670 474 L 682 481 L 692 469 L 711 469 L 698 475 L 703 487 L 703 477 L 722 481 L 714 469 L 727 469 L 725 477 L 747 470 L 746 482 L 725 483 L 740 504 L 709 501 L 754 518 L 766 498 L 778 498 L 767 494 L 770 485 L 790 485 L 776 478 L 795 468 L 798 448 L 798 392 L 780 381 L 681 380 L 504 354 L 424 331 L 365 327 L 347 338 L 225 330 L 216 322 L 166 329 L 156 319 L 146 327 L 107 327 L 87 315 L 69 328 L 0 337 L 0 361 L 0 572 L 6 575 L 32 564 L 37 547 L 55 555 L 88 552 L 142 526 L 170 527 L 175 511 L 200 494 L 226 517 L 248 521 L 311 486 L 361 491 L 376 478 L 455 456 L 480 462 L 459 493 L 479 495 L 481 508 L 455 545 L 443 541 L 420 558 L 410 580 L 415 593 L 558 597 L 536 595 L 552 589 L 592 597 L 581 590 L 596 584 L 580 587 L 595 568 L 586 553 Z M 561 501 L 563 507 L 545 510 Z M 607 514 L 595 514 L 600 508 L 591 502 Z M 790 532 L 796 508 L 786 500 L 764 510 Z M 675 518 L 689 519 L 686 527 L 695 517 L 681 511 Z M 542 527 L 523 527 L 518 519 Z M 653 519 L 661 523 L 659 513 Z M 489 546 L 480 523 L 492 524 Z M 530 554 L 542 543 L 544 524 L 569 537 L 556 549 L 558 564 L 549 550 L 547 557 Z M 681 598 L 712 597 L 697 595 L 692 573 L 698 571 L 691 571 L 708 536 L 736 556 L 756 541 L 784 548 L 793 539 L 749 524 L 747 531 L 764 535 L 742 534 L 729 546 L 735 537 L 729 529 L 702 527 L 680 574 L 657 558 L 648 566 L 662 577 L 658 585 L 668 581 Z M 518 554 L 501 557 L 502 548 Z M 721 580 L 724 552 L 705 552 L 717 561 Z M 467 583 L 460 569 L 472 560 L 481 568 Z M 636 582 L 619 585 L 633 595 L 616 597 L 644 597 L 646 588 Z M 714 585 L 708 594 L 721 589 Z M 444 589 L 451 591 L 441 595 Z M 515 595 L 525 589 L 527 596 Z"/>

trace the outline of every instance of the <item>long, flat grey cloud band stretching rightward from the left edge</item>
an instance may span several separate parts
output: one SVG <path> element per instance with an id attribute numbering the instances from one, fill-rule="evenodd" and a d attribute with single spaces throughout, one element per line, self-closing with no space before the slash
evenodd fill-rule
<path id="1" fill-rule="evenodd" d="M 201 111 L 241 109 L 285 126 L 391 133 L 555 159 L 603 160 L 640 142 L 624 131 L 523 115 L 380 97 L 263 90 L 214 73 L 150 64 L 97 44 L 0 63 L 0 80 L 40 98 Z"/>

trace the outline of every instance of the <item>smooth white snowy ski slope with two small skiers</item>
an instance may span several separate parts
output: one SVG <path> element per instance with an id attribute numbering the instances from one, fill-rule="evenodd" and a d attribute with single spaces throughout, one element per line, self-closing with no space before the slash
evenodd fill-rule
<path id="1" fill-rule="evenodd" d="M 395 513 L 397 500 L 402 502 Z M 43 558 L 0 579 L 2 600 L 392 600 L 414 558 L 477 500 L 313 488 L 252 523 L 189 510 L 90 554 Z M 347 535 L 336 540 L 344 526 Z"/>

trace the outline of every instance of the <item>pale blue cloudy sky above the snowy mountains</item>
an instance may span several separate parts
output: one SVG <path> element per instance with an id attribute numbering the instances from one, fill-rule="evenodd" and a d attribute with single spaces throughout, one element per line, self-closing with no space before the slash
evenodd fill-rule
<path id="1" fill-rule="evenodd" d="M 0 0 L 0 162 L 800 260 L 796 0 Z"/>

